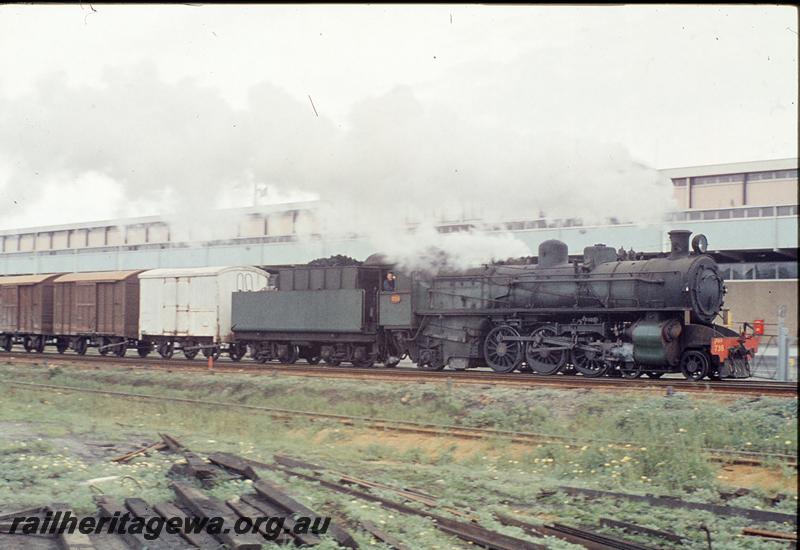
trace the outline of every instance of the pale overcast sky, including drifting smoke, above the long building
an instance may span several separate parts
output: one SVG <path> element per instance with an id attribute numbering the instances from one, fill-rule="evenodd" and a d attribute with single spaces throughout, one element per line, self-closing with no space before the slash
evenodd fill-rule
<path id="1" fill-rule="evenodd" d="M 0 229 L 254 186 L 356 230 L 644 219 L 657 169 L 797 156 L 797 32 L 767 5 L 0 6 Z"/>

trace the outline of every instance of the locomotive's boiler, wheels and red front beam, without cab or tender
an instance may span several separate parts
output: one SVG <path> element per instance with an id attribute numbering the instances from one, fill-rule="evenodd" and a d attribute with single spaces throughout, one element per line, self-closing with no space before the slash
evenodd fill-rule
<path id="1" fill-rule="evenodd" d="M 747 377 L 758 337 L 714 324 L 725 287 L 705 237 L 690 250 L 690 235 L 671 231 L 669 255 L 649 260 L 598 244 L 570 263 L 567 245 L 550 240 L 537 265 L 420 279 L 413 330 L 394 336 L 430 370 Z"/>

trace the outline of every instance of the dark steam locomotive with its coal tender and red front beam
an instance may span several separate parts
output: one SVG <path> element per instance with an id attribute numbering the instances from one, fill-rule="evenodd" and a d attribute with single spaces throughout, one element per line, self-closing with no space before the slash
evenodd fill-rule
<path id="1" fill-rule="evenodd" d="M 407 355 L 426 370 L 748 377 L 759 337 L 714 324 L 725 287 L 705 237 L 690 251 L 690 235 L 671 231 L 666 257 L 620 260 L 599 244 L 573 263 L 550 240 L 537 265 L 395 271 L 393 290 L 377 256 L 284 269 L 277 292 L 234 294 L 233 330 L 261 361 L 394 366 Z"/>

